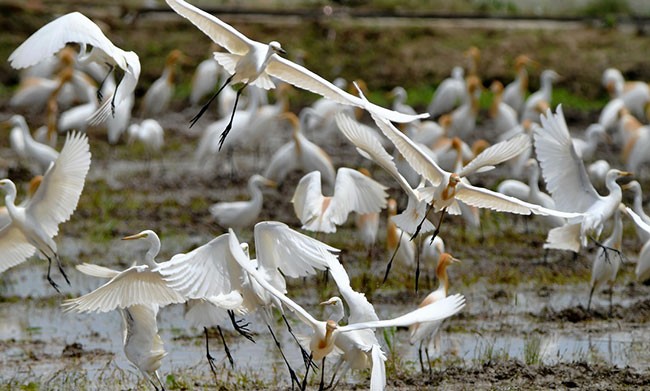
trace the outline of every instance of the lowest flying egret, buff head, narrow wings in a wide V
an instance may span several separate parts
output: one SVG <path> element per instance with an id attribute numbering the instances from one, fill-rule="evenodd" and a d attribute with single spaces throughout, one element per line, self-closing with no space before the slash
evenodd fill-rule
<path id="1" fill-rule="evenodd" d="M 229 230 L 230 251 L 239 265 L 254 278 L 262 288 L 268 293 L 272 294 L 282 304 L 290 308 L 305 324 L 310 326 L 313 334 L 309 341 L 309 349 L 311 351 L 311 358 L 314 360 L 322 360 L 321 364 L 321 384 L 323 384 L 323 370 L 325 364 L 325 357 L 334 349 L 334 343 L 341 333 L 346 333 L 354 330 L 364 330 L 373 328 L 385 327 L 399 327 L 409 326 L 417 322 L 428 322 L 433 320 L 445 319 L 460 311 L 465 306 L 465 298 L 462 295 L 450 296 L 446 299 L 438 301 L 422 307 L 413 312 L 409 312 L 400 317 L 389 320 L 377 320 L 366 322 L 348 323 L 346 326 L 339 326 L 337 322 L 328 320 L 326 322 L 317 320 L 300 305 L 287 297 L 284 293 L 274 287 L 267 281 L 267 277 L 263 273 L 256 270 L 250 263 L 244 252 L 242 251 L 239 241 L 235 236 L 232 229 Z M 305 375 L 305 382 L 307 376 Z"/>

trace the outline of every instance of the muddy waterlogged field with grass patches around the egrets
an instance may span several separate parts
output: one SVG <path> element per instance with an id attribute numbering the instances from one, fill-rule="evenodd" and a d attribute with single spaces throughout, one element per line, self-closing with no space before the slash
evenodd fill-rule
<path id="1" fill-rule="evenodd" d="M 15 34 L 5 34 L 2 38 L 0 55 L 5 58 L 27 34 L 48 20 L 47 13 L 18 11 L 12 19 L 20 20 L 25 15 L 29 16 L 28 23 L 12 23 L 11 31 Z M 4 23 L 6 16 L 1 20 Z M 384 92 L 403 85 L 420 108 L 430 99 L 433 86 L 448 75 L 451 67 L 463 64 L 462 52 L 470 45 L 482 49 L 480 74 L 485 85 L 494 78 L 510 80 L 512 59 L 526 52 L 543 67 L 556 69 L 564 76 L 554 103 L 565 104 L 567 119 L 576 134 L 597 118 L 604 102 L 600 87 L 603 69 L 616 66 L 628 77 L 650 79 L 647 37 L 626 31 L 539 26 L 517 30 L 442 29 L 435 24 L 421 23 L 414 23 L 413 27 L 386 27 L 379 22 L 369 26 L 367 21 L 355 24 L 347 19 L 301 23 L 295 19 L 258 20 L 243 16 L 227 20 L 260 41 L 281 41 L 284 47 L 291 48 L 290 57 L 303 50 L 305 64 L 328 79 L 362 77 L 370 90 L 375 91 L 371 95 L 373 100 L 386 102 Z M 164 25 L 164 32 L 157 26 L 159 23 Z M 177 89 L 172 110 L 159 118 L 166 130 L 161 155 L 146 161 L 141 146 L 125 142 L 110 146 L 105 131 L 88 132 L 93 162 L 86 187 L 72 220 L 62 225 L 57 237 L 72 277 L 72 285 L 64 286 L 64 295 L 55 294 L 45 280 L 45 264 L 36 260 L 12 268 L 0 277 L 0 388 L 3 389 L 147 387 L 124 357 L 117 314 L 61 312 L 62 299 L 86 293 L 99 284 L 76 272 L 73 265 L 92 262 L 125 268 L 143 255 L 143 247 L 119 239 L 147 228 L 161 237 L 161 260 L 225 232 L 210 217 L 209 205 L 246 198 L 247 178 L 261 172 L 272 151 L 290 137 L 286 127 L 269 129 L 266 147 L 259 156 L 250 148 L 237 147 L 234 176 L 225 154 L 203 165 L 197 164 L 194 151 L 198 133 L 214 115 L 202 119 L 199 129 L 188 129 L 188 121 L 196 113 L 188 107 L 188 82 L 194 65 L 208 53 L 208 39 L 173 14 L 142 16 L 131 25 L 113 21 L 111 27 L 116 44 L 140 54 L 143 76 L 138 96 L 160 73 L 162 58 L 169 48 L 182 47 L 192 61 L 181 67 L 182 84 Z M 0 90 L 0 119 L 5 119 L 13 113 L 8 99 L 17 74 L 6 63 L 0 69 L 4 85 Z M 536 83 L 533 78 L 531 88 L 535 89 Z M 297 111 L 313 99 L 311 95 L 295 93 L 292 109 Z M 32 128 L 43 121 L 40 115 L 28 118 Z M 485 113 L 481 116 L 480 131 L 494 140 Z M 330 154 L 335 167 L 367 167 L 377 180 L 391 187 L 392 196 L 405 203 L 397 184 L 381 168 L 361 158 L 342 136 L 307 135 Z M 601 157 L 620 163 L 618 151 L 610 147 L 603 148 Z M 497 169 L 473 183 L 495 188 L 504 179 L 505 172 Z M 23 184 L 30 178 L 30 172 L 9 149 L 6 137 L 0 138 L 0 173 L 1 177 L 15 180 L 19 194 L 23 194 Z M 636 177 L 644 189 L 650 183 L 647 173 L 644 170 Z M 278 190 L 265 190 L 265 208 L 260 220 L 279 220 L 299 227 L 289 199 L 301 175 L 292 174 Z M 631 201 L 627 196 L 626 200 Z M 379 235 L 373 259 L 368 260 L 362 244 L 355 239 L 351 220 L 336 234 L 316 237 L 342 250 L 341 259 L 353 286 L 366 293 L 380 317 L 395 316 L 414 308 L 435 288 L 433 266 L 423 265 L 418 293 L 414 289 L 413 270 L 394 269 L 387 283 L 381 284 L 390 258 L 384 249 L 384 234 Z M 381 233 L 385 232 L 384 216 L 382 220 Z M 450 217 L 445 222 L 441 236 L 447 251 L 462 260 L 449 271 L 451 292 L 464 294 L 468 304 L 461 314 L 446 322 L 440 346 L 432 352 L 430 375 L 420 371 L 417 347 L 408 344 L 406 330 L 383 336 L 378 333 L 379 339 L 386 342 L 390 389 L 622 390 L 650 385 L 647 327 L 650 287 L 634 280 L 634 263 L 641 243 L 631 222 L 625 220 L 625 260 L 614 287 L 611 314 L 606 291 L 596 292 L 593 310 L 586 311 L 594 249 L 583 251 L 575 260 L 569 253 L 554 251 L 545 257 L 542 244 L 546 231 L 547 227 L 539 219 L 486 212 L 481 213 L 480 229 L 466 226 L 460 218 Z M 252 243 L 251 236 L 251 230 L 240 233 L 240 239 Z M 314 313 L 320 311 L 318 302 L 336 292 L 333 282 L 326 282 L 322 276 L 308 284 L 292 281 L 288 290 L 296 301 Z M 173 306 L 161 310 L 159 315 L 161 335 L 169 352 L 160 372 L 168 389 L 290 387 L 281 358 L 256 316 L 249 317 L 255 344 L 233 331 L 226 333 L 236 361 L 234 369 L 225 359 L 217 334 L 211 335 L 212 353 L 220 369 L 215 380 L 204 359 L 200 330 L 187 326 L 183 312 L 181 306 Z M 306 332 L 297 318 L 289 318 L 295 329 Z M 298 349 L 292 345 L 281 320 L 275 326 L 280 330 L 289 360 L 302 373 Z M 327 365 L 331 369 L 332 364 Z M 368 377 L 368 372 L 350 374 L 338 389 L 364 389 Z M 310 384 L 317 387 L 317 376 Z"/>

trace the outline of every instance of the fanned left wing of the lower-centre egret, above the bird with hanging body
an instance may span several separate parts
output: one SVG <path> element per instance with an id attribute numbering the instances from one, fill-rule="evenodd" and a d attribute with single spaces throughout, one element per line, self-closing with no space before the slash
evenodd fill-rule
<path id="1" fill-rule="evenodd" d="M 207 299 L 238 290 L 241 267 L 228 250 L 228 235 L 220 235 L 187 254 L 176 254 L 156 269 L 167 285 L 188 299 Z"/>

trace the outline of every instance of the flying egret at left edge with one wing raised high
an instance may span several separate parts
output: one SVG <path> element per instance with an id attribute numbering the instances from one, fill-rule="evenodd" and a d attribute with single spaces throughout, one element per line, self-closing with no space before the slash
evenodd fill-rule
<path id="1" fill-rule="evenodd" d="M 88 138 L 72 132 L 66 136 L 59 157 L 45 172 L 38 190 L 25 206 L 15 204 L 16 185 L 9 179 L 0 180 L 11 217 L 11 223 L 0 229 L 0 253 L 3 254 L 0 273 L 38 252 L 39 257 L 48 261 L 47 280 L 54 289 L 59 290 L 50 277 L 52 260 L 70 283 L 52 238 L 59 232 L 59 224 L 67 221 L 77 208 L 89 168 Z"/>

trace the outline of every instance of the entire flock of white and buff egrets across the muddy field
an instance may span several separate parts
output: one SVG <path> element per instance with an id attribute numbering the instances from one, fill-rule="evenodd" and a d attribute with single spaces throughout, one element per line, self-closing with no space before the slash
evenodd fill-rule
<path id="1" fill-rule="evenodd" d="M 446 214 L 462 214 L 470 224 L 479 223 L 480 208 L 539 215 L 549 227 L 545 248 L 579 252 L 590 243 L 598 246 L 589 305 L 598 287 L 614 282 L 621 262 L 621 219 L 627 214 L 637 227 L 639 239 L 646 243 L 639 255 L 637 278 L 650 277 L 650 218 L 643 212 L 641 187 L 636 181 L 624 186 L 635 195 L 633 207 L 627 208 L 622 204 L 623 190 L 616 182 L 630 175 L 628 171 L 638 170 L 650 156 L 646 153 L 650 128 L 642 125 L 650 116 L 650 89 L 646 83 L 626 82 L 615 69 L 605 71 L 603 85 L 612 99 L 602 110 L 599 122 L 585 132 L 585 138 L 576 139 L 569 133 L 562 107 L 555 112 L 549 107 L 552 83 L 559 75 L 545 70 L 540 90 L 528 94 L 528 69 L 535 63 L 521 56 L 512 83 L 505 87 L 499 82 L 491 85 L 491 124 L 500 139 L 492 145 L 477 142 L 470 146 L 466 141 L 478 138 L 474 130 L 478 99 L 484 90 L 476 74 L 477 49 L 468 52 L 470 65 L 466 70 L 454 68 L 452 76 L 440 84 L 428 113 L 417 114 L 405 103 L 402 88 L 393 90 L 392 109 L 380 107 L 365 98 L 361 83 L 354 85 L 356 95 L 346 92 L 345 82 L 330 83 L 281 57 L 284 50 L 278 42 L 253 41 L 183 0 L 166 1 L 225 49 L 199 64 L 193 79 L 190 100 L 194 106 L 206 101 L 218 80 L 222 80 L 218 92 L 192 119 L 192 125 L 197 123 L 210 102 L 218 99 L 221 119 L 205 126 L 197 159 L 204 161 L 208 154 L 224 146 L 236 148 L 242 140 L 259 142 L 272 121 L 288 120 L 294 131 L 291 141 L 266 164 L 263 176 L 250 177 L 250 200 L 210 207 L 215 221 L 228 228 L 228 233 L 191 252 L 158 262 L 160 240 L 153 231 L 145 230 L 124 238 L 149 243 L 142 262 L 123 271 L 77 265 L 82 273 L 107 282 L 81 297 L 66 300 L 65 311 L 120 311 L 125 355 L 154 388 L 164 388 L 158 369 L 166 354 L 156 317 L 161 306 L 175 303 L 188 303 L 187 316 L 192 324 L 205 330 L 206 339 L 209 327 L 216 326 L 220 331 L 219 325 L 226 323 L 252 338 L 247 324 L 237 317 L 259 310 L 281 352 L 273 319 L 278 312 L 285 317 L 284 310 L 289 309 L 313 330 L 307 339 L 296 339 L 305 364 L 302 379 L 284 359 L 292 386 L 302 389 L 307 386 L 310 369 L 317 368 L 323 387 L 328 356 L 338 360 L 330 385 L 337 373 L 340 379 L 349 369 L 371 368 L 370 389 L 384 389 L 386 356 L 375 336 L 375 329 L 382 327 L 409 326 L 411 343 L 419 343 L 420 350 L 424 347 L 430 365 L 428 346 L 442 320 L 465 305 L 462 295 L 447 294 L 446 268 L 457 260 L 444 252 L 439 235 L 444 234 L 441 226 Z M 5 193 L 5 207 L 0 209 L 0 272 L 37 254 L 48 262 L 47 279 L 54 289 L 58 291 L 59 286 L 51 277 L 52 263 L 68 281 L 53 238 L 59 225 L 74 213 L 90 168 L 90 148 L 83 132 L 89 126 L 105 127 L 108 141 L 116 143 L 127 131 L 129 142 L 137 140 L 151 153 L 159 151 L 164 145 L 164 131 L 155 118 L 167 110 L 178 61 L 187 59 L 179 51 L 171 52 L 164 73 L 143 98 L 141 117 L 145 119 L 136 124 L 132 123 L 131 112 L 140 75 L 138 56 L 113 45 L 84 15 L 73 12 L 53 20 L 11 54 L 11 66 L 23 72 L 11 105 L 45 111 L 47 124 L 32 135 L 22 116 L 15 115 L 8 122 L 12 127 L 11 147 L 37 176 L 20 204 L 16 202 L 15 184 L 10 179 L 0 180 L 0 189 Z M 121 73 L 120 79 L 114 77 L 116 72 Z M 314 92 L 322 99 L 299 116 L 288 113 L 284 91 L 289 85 Z M 266 91 L 274 88 L 277 103 L 269 104 Z M 244 90 L 245 103 L 240 104 Z M 79 101 L 84 103 L 72 105 Z M 369 113 L 374 126 L 359 122 L 355 109 Z M 400 123 L 400 128 L 394 123 Z M 335 171 L 324 150 L 303 133 L 305 129 L 343 134 L 361 156 L 397 182 L 408 200 L 406 209 L 398 214 L 397 203 L 388 197 L 388 187 L 367 171 L 347 167 Z M 67 132 L 59 152 L 51 146 L 56 145 L 57 132 Z M 606 161 L 585 165 L 584 160 L 594 160 L 603 142 L 620 148 L 628 171 L 609 168 Z M 470 182 L 472 177 L 504 162 L 511 177 L 517 179 L 503 181 L 498 191 Z M 550 195 L 539 187 L 540 169 Z M 393 261 L 405 268 L 414 268 L 417 263 L 417 276 L 417 254 L 421 252 L 422 259 L 437 262 L 439 288 L 418 309 L 379 320 L 364 294 L 350 286 L 338 259 L 339 249 L 281 222 L 255 224 L 263 208 L 261 188 L 277 186 L 296 170 L 306 173 L 291 198 L 303 230 L 335 232 L 355 213 L 360 240 L 371 251 L 377 238 L 379 213 L 387 208 L 386 241 L 393 257 L 386 276 Z M 522 178 L 527 181 L 520 181 Z M 592 183 L 596 187 L 604 183 L 607 194 L 599 194 Z M 324 195 L 323 188 L 331 190 L 331 195 Z M 248 244 L 239 241 L 235 230 L 254 224 L 257 259 L 250 259 Z M 610 224 L 611 234 L 601 241 L 601 233 Z M 321 303 L 333 308 L 325 320 L 316 319 L 292 300 L 285 281 L 319 271 L 332 276 L 343 298 L 333 297 Z M 346 306 L 346 325 L 340 325 L 346 318 Z M 226 353 L 232 363 L 227 347 Z M 207 357 L 216 371 L 209 351 Z M 420 363 L 424 368 L 421 354 Z"/>

